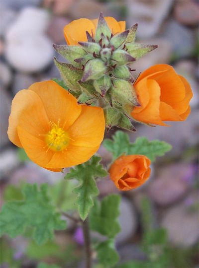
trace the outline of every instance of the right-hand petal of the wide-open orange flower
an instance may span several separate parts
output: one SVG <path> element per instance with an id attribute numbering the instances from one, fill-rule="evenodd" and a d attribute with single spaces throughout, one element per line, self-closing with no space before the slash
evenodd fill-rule
<path id="1" fill-rule="evenodd" d="M 67 130 L 74 140 L 71 144 L 83 147 L 96 147 L 103 140 L 105 120 L 103 109 L 82 105 L 82 113 Z"/>

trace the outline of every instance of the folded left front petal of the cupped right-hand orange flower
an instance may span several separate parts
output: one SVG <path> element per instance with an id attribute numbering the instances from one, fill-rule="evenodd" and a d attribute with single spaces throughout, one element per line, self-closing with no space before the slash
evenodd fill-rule
<path id="1" fill-rule="evenodd" d="M 140 113 L 131 113 L 131 116 L 144 123 L 166 126 L 160 118 L 160 86 L 152 79 L 147 80 L 147 91 L 150 96 L 149 103 Z M 135 110 L 138 108 L 135 108 Z"/>

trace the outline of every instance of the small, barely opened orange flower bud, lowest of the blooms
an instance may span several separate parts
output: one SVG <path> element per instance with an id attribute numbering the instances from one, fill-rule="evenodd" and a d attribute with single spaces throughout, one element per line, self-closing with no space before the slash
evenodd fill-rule
<path id="1" fill-rule="evenodd" d="M 151 161 L 145 155 L 122 155 L 109 169 L 110 179 L 121 191 L 141 186 L 151 174 Z"/>

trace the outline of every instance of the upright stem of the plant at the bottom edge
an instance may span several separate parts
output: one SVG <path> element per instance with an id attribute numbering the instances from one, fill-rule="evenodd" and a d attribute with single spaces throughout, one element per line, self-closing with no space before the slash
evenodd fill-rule
<path id="1" fill-rule="evenodd" d="M 85 248 L 85 262 L 86 268 L 92 267 L 91 260 L 91 238 L 90 238 L 90 228 L 88 218 L 85 221 L 82 221 L 82 229 L 84 234 L 84 248 Z"/>

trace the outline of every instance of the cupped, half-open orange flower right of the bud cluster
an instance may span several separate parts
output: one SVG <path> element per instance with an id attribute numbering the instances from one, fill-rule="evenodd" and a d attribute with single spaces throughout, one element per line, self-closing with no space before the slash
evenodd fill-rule
<path id="1" fill-rule="evenodd" d="M 141 104 L 131 113 L 136 121 L 168 126 L 163 121 L 184 121 L 191 112 L 191 86 L 169 65 L 149 67 L 140 74 L 134 88 Z"/>

